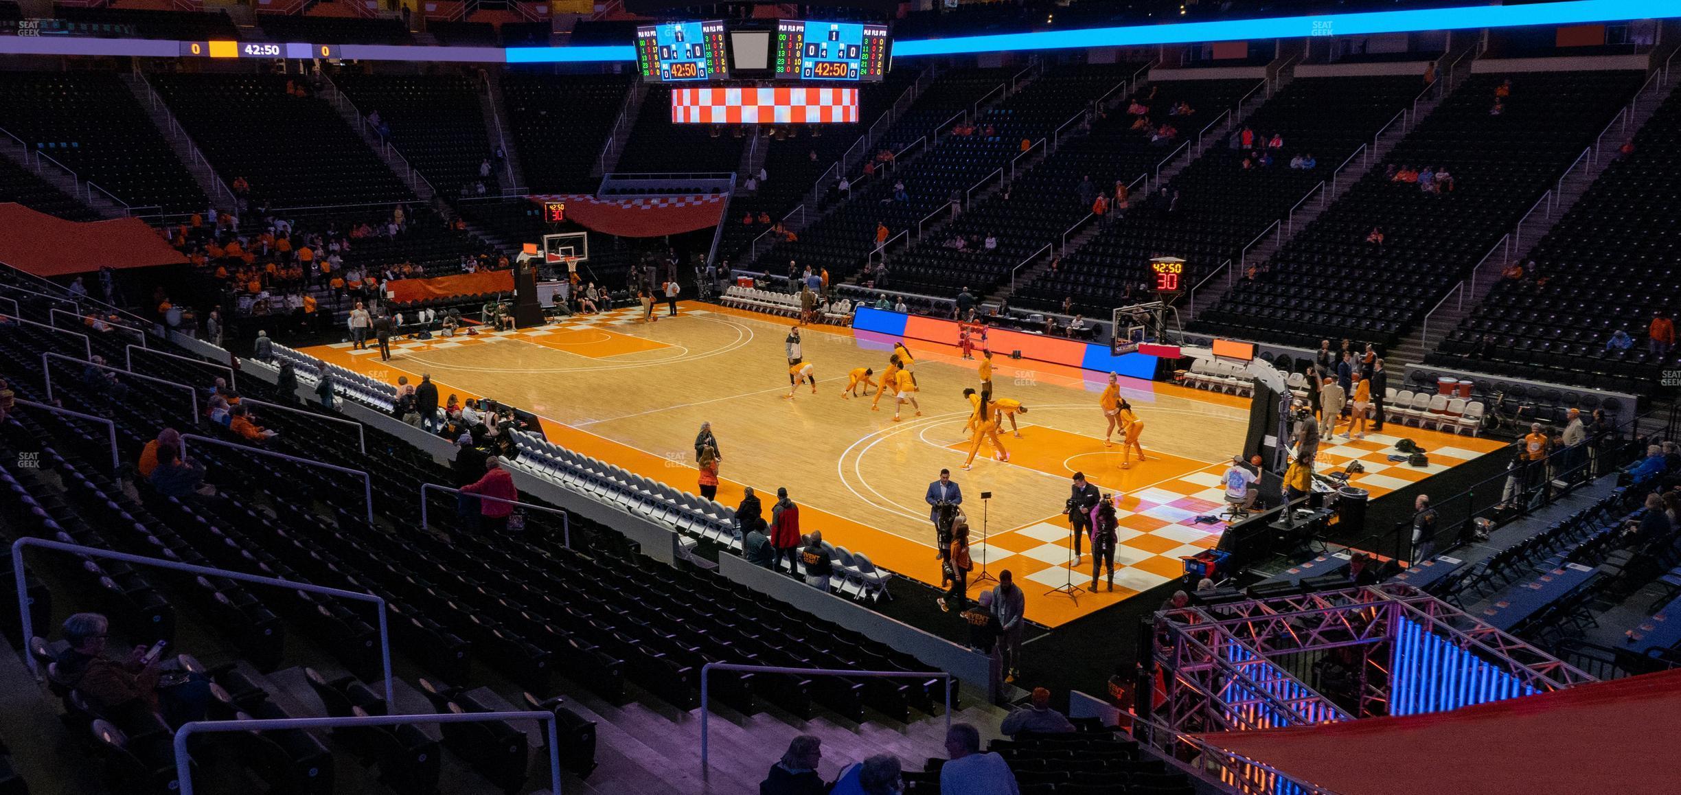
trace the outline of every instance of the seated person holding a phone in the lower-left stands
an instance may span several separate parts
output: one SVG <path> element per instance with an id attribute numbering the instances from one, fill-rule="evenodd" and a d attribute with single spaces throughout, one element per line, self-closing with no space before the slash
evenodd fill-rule
<path id="1" fill-rule="evenodd" d="M 66 619 L 64 640 L 71 645 L 55 661 L 55 681 L 81 692 L 101 714 L 146 709 L 163 714 L 170 726 L 203 719 L 210 682 L 202 674 L 185 671 L 177 659 L 165 661 L 163 640 L 136 645 L 124 661 L 111 659 L 104 654 L 109 632 L 111 622 L 101 613 Z"/>

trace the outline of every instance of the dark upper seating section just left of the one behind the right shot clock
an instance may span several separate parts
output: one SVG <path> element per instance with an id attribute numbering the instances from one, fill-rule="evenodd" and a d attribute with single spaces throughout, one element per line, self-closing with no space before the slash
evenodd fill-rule
<path id="1" fill-rule="evenodd" d="M 1130 71 L 1125 67 L 1120 74 Z M 1195 141 L 1202 128 L 1257 84 L 1172 81 L 1143 86 L 1115 109 L 1093 118 L 1089 131 L 1081 126 L 1066 129 L 1062 146 L 1020 175 L 1010 185 L 1009 198 L 1004 193 L 993 195 L 940 230 L 935 239 L 923 240 L 913 252 L 898 257 L 891 266 L 894 286 L 948 296 L 956 289 L 953 284 L 967 282 L 983 294 L 990 292 L 1009 279 L 1010 269 L 1046 244 L 1061 244 L 1062 232 L 1091 212 L 1093 202 L 1089 197 L 1083 198 L 1079 187 L 1084 178 L 1091 178 L 1091 187 L 1084 190 L 1113 197 L 1116 182 L 1135 183 L 1180 145 Z M 1150 113 L 1128 113 L 1135 103 Z M 1162 124 L 1177 128 L 1177 134 L 1153 141 Z M 1143 185 L 1135 185 L 1133 190 L 1143 190 Z M 975 240 L 983 242 L 987 235 L 997 235 L 999 247 L 977 252 Z M 960 237 L 965 240 L 962 252 L 953 249 Z M 1032 308 L 1032 296 L 1037 294 L 1034 289 L 1017 294 L 1027 301 L 1012 297 L 1012 303 Z"/>

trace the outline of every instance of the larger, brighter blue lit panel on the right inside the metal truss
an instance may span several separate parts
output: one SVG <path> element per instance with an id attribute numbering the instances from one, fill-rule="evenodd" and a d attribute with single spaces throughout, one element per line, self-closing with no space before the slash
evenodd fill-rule
<path id="1" fill-rule="evenodd" d="M 1538 691 L 1410 619 L 1395 622 L 1389 714 L 1420 714 Z"/>

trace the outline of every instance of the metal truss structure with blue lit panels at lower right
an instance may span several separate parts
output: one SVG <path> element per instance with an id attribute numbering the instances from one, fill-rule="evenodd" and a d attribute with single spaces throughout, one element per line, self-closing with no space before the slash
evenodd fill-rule
<path id="1" fill-rule="evenodd" d="M 1325 664 L 1341 672 L 1331 696 L 1308 684 Z M 1595 681 L 1399 583 L 1163 610 L 1153 674 L 1150 711 L 1175 733 L 1415 714 Z"/>

